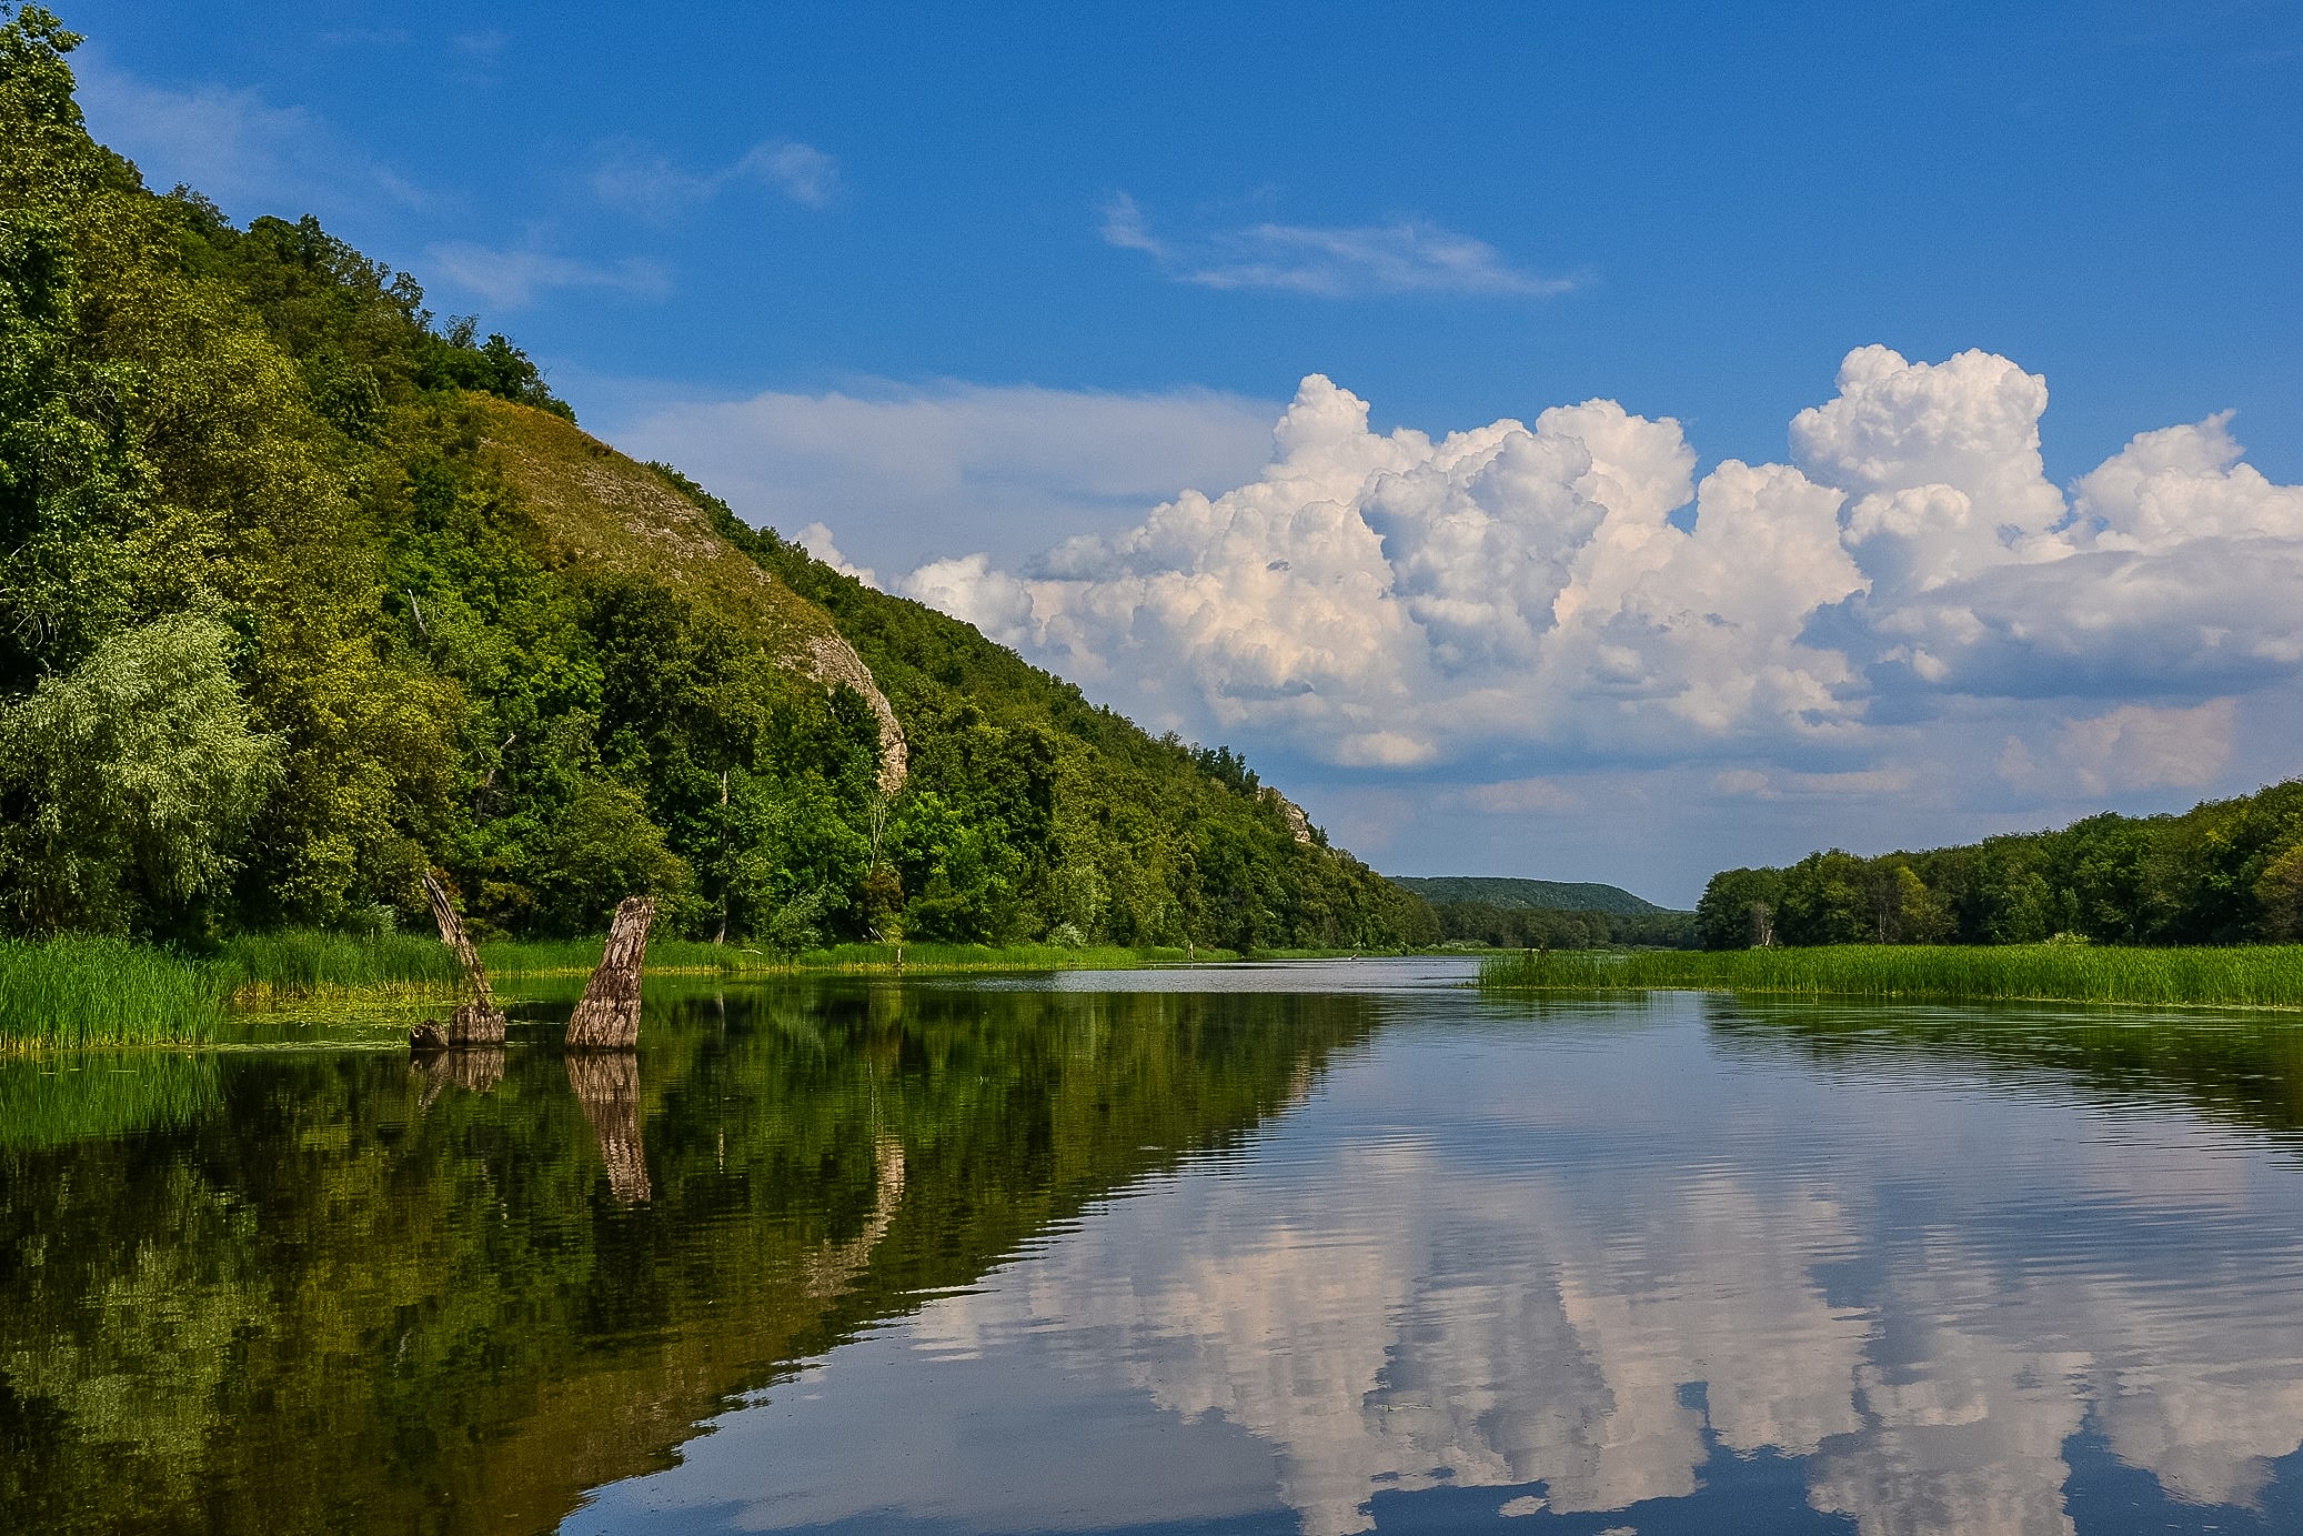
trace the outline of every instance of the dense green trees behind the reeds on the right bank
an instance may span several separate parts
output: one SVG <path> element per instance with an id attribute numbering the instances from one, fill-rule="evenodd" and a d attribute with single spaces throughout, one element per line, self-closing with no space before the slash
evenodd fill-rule
<path id="1" fill-rule="evenodd" d="M 2303 940 L 2303 778 L 2181 815 L 1723 870 L 1695 923 L 1704 949 Z"/>

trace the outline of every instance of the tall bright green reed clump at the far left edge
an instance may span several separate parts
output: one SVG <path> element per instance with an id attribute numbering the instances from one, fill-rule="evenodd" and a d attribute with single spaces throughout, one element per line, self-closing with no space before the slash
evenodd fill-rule
<path id="1" fill-rule="evenodd" d="M 127 940 L 0 940 L 0 1050 L 173 1045 L 223 1018 L 210 967 Z"/>

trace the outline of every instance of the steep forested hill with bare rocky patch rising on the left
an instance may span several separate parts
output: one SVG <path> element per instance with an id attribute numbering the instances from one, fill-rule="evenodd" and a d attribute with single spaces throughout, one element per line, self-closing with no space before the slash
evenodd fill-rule
<path id="1" fill-rule="evenodd" d="M 0 926 L 1389 944 L 1430 910 L 1152 739 L 576 431 L 311 219 L 92 143 L 0 25 Z"/>

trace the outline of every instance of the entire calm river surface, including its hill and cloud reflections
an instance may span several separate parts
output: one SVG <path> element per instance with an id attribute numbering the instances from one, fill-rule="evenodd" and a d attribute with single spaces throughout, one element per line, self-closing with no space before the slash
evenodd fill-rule
<path id="1" fill-rule="evenodd" d="M 2303 1029 L 1460 976 L 0 1064 L 0 1529 L 2303 1531 Z"/>

